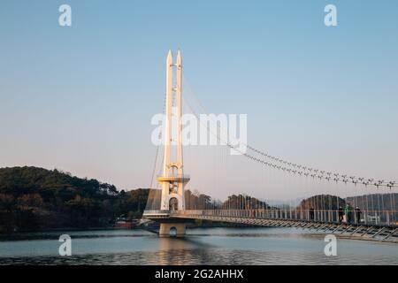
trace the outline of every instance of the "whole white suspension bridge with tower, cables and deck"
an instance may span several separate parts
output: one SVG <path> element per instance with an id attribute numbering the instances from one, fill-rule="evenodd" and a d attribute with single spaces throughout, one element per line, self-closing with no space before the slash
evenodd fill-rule
<path id="1" fill-rule="evenodd" d="M 307 197 L 295 203 L 266 201 L 247 194 L 229 195 L 225 201 L 209 195 L 192 193 L 186 186 L 191 177 L 184 172 L 182 145 L 182 60 L 180 50 L 173 62 L 172 52 L 166 59 L 166 92 L 163 158 L 157 155 L 150 193 L 143 218 L 160 223 L 159 235 L 169 236 L 175 230 L 177 236 L 185 235 L 188 223 L 195 220 L 226 222 L 250 226 L 295 227 L 317 233 L 337 233 L 379 241 L 398 241 L 398 213 L 396 198 L 398 184 L 394 180 L 381 180 L 353 176 L 344 172 L 327 171 L 306 164 L 297 164 L 275 157 L 262 149 L 244 144 L 245 151 L 224 141 L 219 128 L 214 131 L 204 125 L 207 132 L 224 144 L 237 150 L 241 157 L 269 171 L 281 173 L 283 178 L 295 176 L 310 182 L 333 183 L 321 194 L 305 192 Z M 186 102 L 190 111 L 197 112 Z M 206 112 L 201 104 L 201 111 Z M 175 123 L 172 120 L 175 119 Z M 216 123 L 217 124 L 217 123 Z M 174 142 L 174 143 L 173 143 Z M 155 177 L 158 160 L 160 172 Z M 217 176 L 218 178 L 218 176 Z M 152 188 L 156 179 L 157 186 Z M 294 185 L 293 185 L 294 186 Z M 340 187 L 364 187 L 362 194 L 339 196 Z M 267 191 L 264 192 L 267 194 Z"/>

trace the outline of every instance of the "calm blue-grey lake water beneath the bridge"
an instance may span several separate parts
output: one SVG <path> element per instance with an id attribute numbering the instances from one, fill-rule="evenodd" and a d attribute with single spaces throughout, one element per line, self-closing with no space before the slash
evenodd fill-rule
<path id="1" fill-rule="evenodd" d="M 59 235 L 73 256 L 59 256 Z M 0 241 L 0 264 L 398 264 L 398 244 L 338 240 L 294 228 L 195 228 L 182 239 L 143 230 L 24 233 Z M 15 241 L 18 239 L 18 241 Z"/>

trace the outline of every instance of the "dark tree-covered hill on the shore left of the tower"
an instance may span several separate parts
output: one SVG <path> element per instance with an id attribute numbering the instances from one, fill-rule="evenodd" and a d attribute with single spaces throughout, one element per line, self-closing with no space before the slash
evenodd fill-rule
<path id="1" fill-rule="evenodd" d="M 0 168 L 0 232 L 109 226 L 119 216 L 140 217 L 148 194 L 58 170 Z"/>

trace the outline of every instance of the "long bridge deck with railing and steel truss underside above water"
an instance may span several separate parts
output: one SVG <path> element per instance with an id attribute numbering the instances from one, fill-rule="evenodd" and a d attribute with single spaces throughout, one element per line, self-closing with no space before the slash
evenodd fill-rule
<path id="1" fill-rule="evenodd" d="M 333 214 L 330 213 L 331 211 L 327 212 L 329 216 Z M 295 211 L 295 213 L 293 213 L 293 211 L 280 213 L 280 210 L 275 210 L 266 211 L 266 213 L 264 213 L 264 211 L 260 210 L 147 210 L 144 212 L 143 217 L 155 221 L 202 219 L 213 222 L 228 222 L 251 226 L 294 227 L 308 229 L 317 233 L 348 235 L 353 238 L 364 240 L 398 242 L 398 227 L 396 223 L 368 222 L 347 224 L 333 220 L 337 217 L 335 216 L 333 218 L 333 215 L 329 218 L 319 218 L 314 214 L 314 218 L 310 219 L 305 213 L 302 213 L 302 211 L 299 211 L 299 213 L 297 213 L 297 211 Z"/>

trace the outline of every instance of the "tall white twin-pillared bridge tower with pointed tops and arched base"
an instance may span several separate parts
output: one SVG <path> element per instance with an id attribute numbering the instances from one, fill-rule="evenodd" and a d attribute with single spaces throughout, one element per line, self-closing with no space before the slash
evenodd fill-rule
<path id="1" fill-rule="evenodd" d="M 175 79 L 174 79 L 175 75 Z M 172 51 L 169 50 L 166 59 L 166 101 L 165 101 L 165 157 L 163 160 L 163 173 L 157 177 L 162 187 L 162 211 L 185 210 L 184 187 L 189 181 L 184 175 L 181 140 L 181 87 L 182 87 L 182 60 L 178 50 L 175 64 L 173 64 Z M 172 150 L 174 149 L 174 150 Z M 162 221 L 159 235 L 170 235 L 172 228 L 176 229 L 177 236 L 185 234 L 186 224 Z"/>

